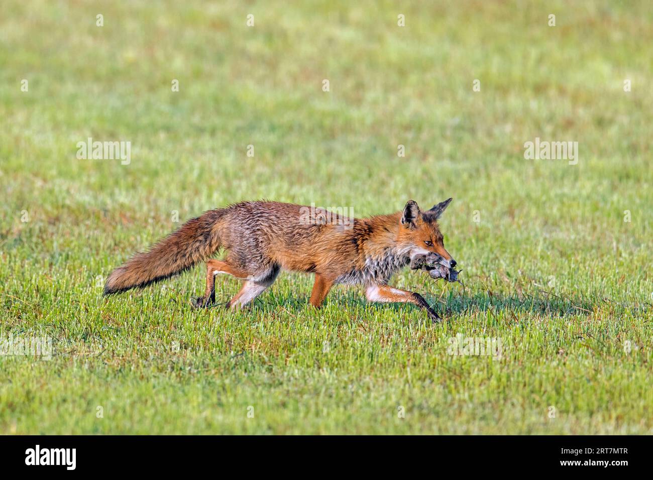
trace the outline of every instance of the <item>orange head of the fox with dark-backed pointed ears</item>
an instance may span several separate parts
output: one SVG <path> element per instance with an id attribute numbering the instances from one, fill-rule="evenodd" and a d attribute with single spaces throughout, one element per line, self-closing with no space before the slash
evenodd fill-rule
<path id="1" fill-rule="evenodd" d="M 399 226 L 398 241 L 407 250 L 411 259 L 415 255 L 436 253 L 442 257 L 440 263 L 444 266 L 448 268 L 456 266 L 456 261 L 445 249 L 444 238 L 438 226 L 438 218 L 449 202 L 451 199 L 439 202 L 426 212 L 422 212 L 414 200 L 407 202 Z"/>

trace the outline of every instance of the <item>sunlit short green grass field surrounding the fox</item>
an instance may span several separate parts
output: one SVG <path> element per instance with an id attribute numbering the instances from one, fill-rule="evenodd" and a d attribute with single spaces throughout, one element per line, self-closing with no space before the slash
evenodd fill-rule
<path id="1" fill-rule="evenodd" d="M 653 432 L 650 2 L 0 8 L 0 342 L 53 350 L 0 356 L 0 432 Z M 88 137 L 131 163 L 78 159 Z M 525 159 L 535 137 L 579 142 L 577 165 Z M 447 197 L 464 287 L 393 280 L 439 325 L 355 287 L 313 310 L 290 273 L 235 313 L 189 306 L 203 266 L 101 297 L 176 215 Z M 239 287 L 218 276 L 218 300 Z"/>

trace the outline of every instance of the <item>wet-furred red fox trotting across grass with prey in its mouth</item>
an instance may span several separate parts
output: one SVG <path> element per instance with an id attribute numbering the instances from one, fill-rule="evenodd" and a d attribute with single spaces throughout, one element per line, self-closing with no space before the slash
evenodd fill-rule
<path id="1" fill-rule="evenodd" d="M 227 303 L 227 308 L 240 308 L 270 287 L 283 268 L 315 274 L 314 307 L 332 285 L 358 284 L 370 302 L 409 302 L 439 321 L 419 293 L 390 287 L 388 281 L 417 255 L 436 255 L 443 266 L 456 266 L 438 226 L 449 202 L 422 212 L 410 200 L 402 212 L 363 219 L 329 212 L 328 223 L 314 209 L 307 221 L 308 207 L 280 202 L 240 202 L 209 210 L 111 272 L 104 295 L 145 287 L 206 261 L 206 292 L 191 302 L 199 308 L 215 302 L 217 274 L 244 280 Z M 210 259 L 220 248 L 227 251 L 225 259 Z"/>

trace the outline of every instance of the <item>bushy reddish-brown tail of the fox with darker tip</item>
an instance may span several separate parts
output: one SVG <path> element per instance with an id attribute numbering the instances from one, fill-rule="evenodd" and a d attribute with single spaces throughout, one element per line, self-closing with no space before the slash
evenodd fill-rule
<path id="1" fill-rule="evenodd" d="M 180 274 L 213 255 L 220 247 L 217 229 L 223 213 L 224 210 L 204 212 L 159 240 L 148 251 L 136 253 L 111 272 L 104 285 L 104 295 L 146 287 Z"/>

